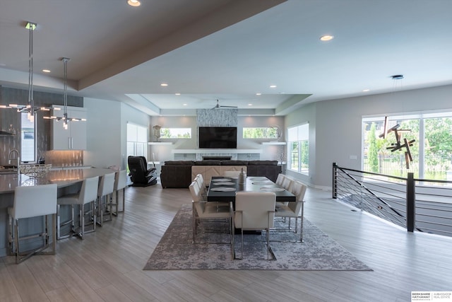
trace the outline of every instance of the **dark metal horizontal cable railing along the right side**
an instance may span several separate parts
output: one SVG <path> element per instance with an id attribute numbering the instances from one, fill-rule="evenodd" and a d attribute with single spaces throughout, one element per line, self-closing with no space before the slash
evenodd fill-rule
<path id="1" fill-rule="evenodd" d="M 333 163 L 333 198 L 408 231 L 452 236 L 452 182 L 364 172 Z"/>

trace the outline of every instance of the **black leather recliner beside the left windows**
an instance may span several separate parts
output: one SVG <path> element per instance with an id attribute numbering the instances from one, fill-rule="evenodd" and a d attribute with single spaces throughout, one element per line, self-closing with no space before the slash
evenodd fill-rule
<path id="1" fill-rule="evenodd" d="M 144 156 L 129 156 L 127 163 L 129 164 L 129 175 L 133 181 L 133 187 L 147 187 L 157 183 L 155 167 L 148 169 L 148 161 Z"/>

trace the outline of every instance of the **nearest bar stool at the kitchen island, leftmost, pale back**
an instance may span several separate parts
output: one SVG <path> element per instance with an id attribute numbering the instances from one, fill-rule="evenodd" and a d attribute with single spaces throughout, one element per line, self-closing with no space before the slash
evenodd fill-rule
<path id="1" fill-rule="evenodd" d="M 55 214 L 57 214 L 57 185 L 36 185 L 32 187 L 16 187 L 14 189 L 14 205 L 8 208 L 8 233 L 10 255 L 16 255 L 16 263 L 23 262 L 32 255 L 55 255 L 57 237 L 55 236 Z M 52 215 L 52 228 L 49 228 L 48 215 Z M 20 237 L 19 219 L 44 216 L 44 229 L 40 233 Z M 28 222 L 28 221 L 27 221 Z M 25 226 L 28 223 L 24 223 Z M 52 235 L 52 245 L 49 236 Z M 39 248 L 20 251 L 20 240 L 42 237 L 43 243 Z M 27 243 L 31 245 L 31 242 Z M 50 251 L 44 251 L 51 246 Z"/>

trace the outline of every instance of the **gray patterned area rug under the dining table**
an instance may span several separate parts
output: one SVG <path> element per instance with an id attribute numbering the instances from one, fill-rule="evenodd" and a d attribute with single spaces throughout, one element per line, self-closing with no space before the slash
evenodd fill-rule
<path id="1" fill-rule="evenodd" d="M 353 255 L 329 238 L 319 228 L 304 219 L 304 242 L 270 242 L 277 260 L 266 260 L 266 236 L 244 236 L 243 260 L 232 260 L 228 223 L 201 222 L 203 227 L 216 228 L 215 233 L 198 233 L 196 244 L 192 242 L 191 205 L 183 205 L 167 228 L 160 243 L 150 256 L 144 269 L 270 269 L 270 270 L 344 270 L 371 271 Z M 282 220 L 275 221 L 275 228 L 286 226 Z M 292 219 L 292 227 L 295 221 Z M 270 240 L 296 240 L 299 233 L 270 231 Z M 215 243 L 211 243 L 215 242 Z M 218 244 L 222 242 L 224 244 Z M 240 257 L 241 239 L 235 235 L 235 251 Z"/>

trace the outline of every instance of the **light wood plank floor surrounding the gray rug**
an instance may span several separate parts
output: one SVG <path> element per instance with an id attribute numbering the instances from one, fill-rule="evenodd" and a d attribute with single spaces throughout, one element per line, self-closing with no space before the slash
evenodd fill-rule
<path id="1" fill-rule="evenodd" d="M 374 272 L 143 271 L 188 189 L 126 189 L 126 212 L 57 243 L 57 255 L 0 259 L 0 301 L 410 301 L 452 291 L 452 240 L 407 233 L 309 188 L 305 217 Z"/>

